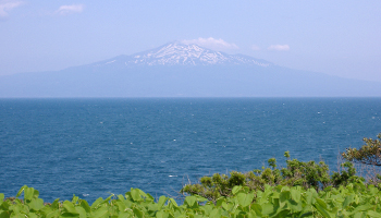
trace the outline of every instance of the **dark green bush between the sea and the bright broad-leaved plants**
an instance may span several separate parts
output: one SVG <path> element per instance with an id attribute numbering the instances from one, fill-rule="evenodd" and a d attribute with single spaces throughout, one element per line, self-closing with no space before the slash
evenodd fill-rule
<path id="1" fill-rule="evenodd" d="M 362 178 L 356 177 L 356 169 L 351 162 L 343 164 L 346 170 L 329 173 L 329 167 L 320 161 L 303 162 L 290 159 L 290 153 L 284 154 L 286 167 L 278 169 L 275 158 L 270 158 L 268 164 L 271 168 L 256 169 L 247 173 L 232 171 L 230 177 L 216 173 L 212 177 L 202 177 L 199 184 L 186 184 L 182 193 L 197 194 L 212 202 L 221 196 L 232 196 L 235 185 L 248 187 L 249 191 L 263 191 L 266 185 L 303 186 L 305 189 L 323 190 L 327 186 L 335 187 L 352 182 L 361 182 Z"/>

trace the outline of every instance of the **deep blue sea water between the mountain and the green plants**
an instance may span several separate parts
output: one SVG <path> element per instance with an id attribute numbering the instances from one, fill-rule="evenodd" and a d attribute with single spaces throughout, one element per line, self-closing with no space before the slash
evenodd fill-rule
<path id="1" fill-rule="evenodd" d="M 325 160 L 381 132 L 381 98 L 0 99 L 0 193 L 90 202 L 249 171 L 283 153 Z"/>

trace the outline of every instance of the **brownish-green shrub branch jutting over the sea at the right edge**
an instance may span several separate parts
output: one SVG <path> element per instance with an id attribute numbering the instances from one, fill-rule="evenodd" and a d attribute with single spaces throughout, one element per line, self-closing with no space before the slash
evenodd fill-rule
<path id="1" fill-rule="evenodd" d="M 343 158 L 348 161 L 360 162 L 365 165 L 381 166 L 381 133 L 378 140 L 364 138 L 365 145 L 361 148 L 346 148 L 342 154 Z"/>

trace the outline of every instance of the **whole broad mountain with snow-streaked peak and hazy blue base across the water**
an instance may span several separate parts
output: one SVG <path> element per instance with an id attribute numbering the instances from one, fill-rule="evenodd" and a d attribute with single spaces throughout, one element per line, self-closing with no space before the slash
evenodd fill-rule
<path id="1" fill-rule="evenodd" d="M 0 76 L 0 97 L 380 97 L 381 83 L 179 41 L 54 72 Z"/>

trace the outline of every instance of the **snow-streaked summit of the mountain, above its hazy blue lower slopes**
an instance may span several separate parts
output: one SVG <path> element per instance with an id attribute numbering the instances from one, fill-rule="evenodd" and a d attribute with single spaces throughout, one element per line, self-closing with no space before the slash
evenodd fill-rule
<path id="1" fill-rule="evenodd" d="M 220 51 L 202 48 L 198 45 L 181 44 L 179 41 L 163 45 L 159 48 L 135 53 L 120 56 L 96 65 L 124 64 L 135 65 L 259 65 L 269 66 L 272 63 L 243 55 L 228 55 Z"/>

